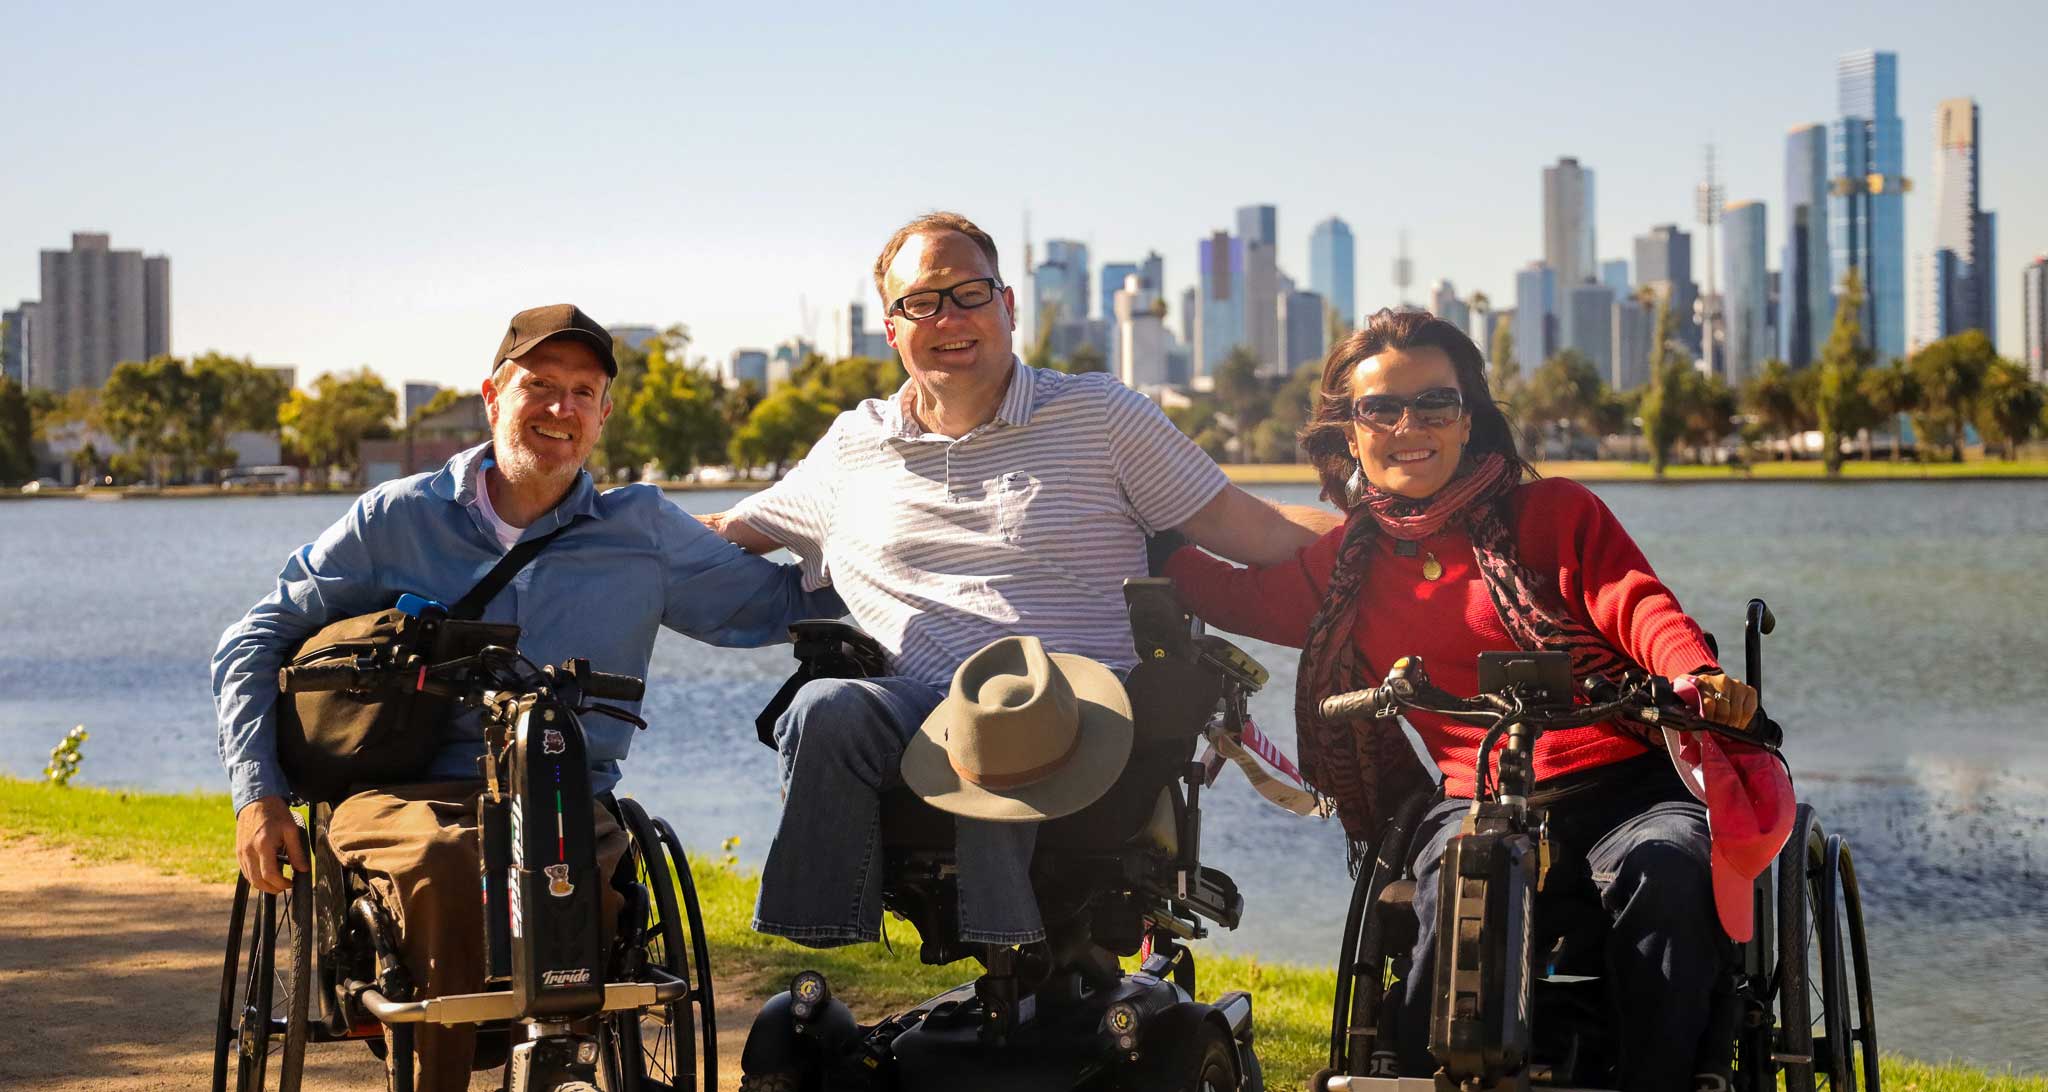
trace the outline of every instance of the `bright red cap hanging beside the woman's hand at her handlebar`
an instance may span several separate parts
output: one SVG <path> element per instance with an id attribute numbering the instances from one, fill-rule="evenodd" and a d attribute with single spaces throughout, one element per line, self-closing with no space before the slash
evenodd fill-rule
<path id="1" fill-rule="evenodd" d="M 1792 774 L 1772 752 L 1708 731 L 1665 731 L 1671 762 L 1706 803 L 1714 910 L 1735 942 L 1755 934 L 1755 885 L 1792 836 Z"/>

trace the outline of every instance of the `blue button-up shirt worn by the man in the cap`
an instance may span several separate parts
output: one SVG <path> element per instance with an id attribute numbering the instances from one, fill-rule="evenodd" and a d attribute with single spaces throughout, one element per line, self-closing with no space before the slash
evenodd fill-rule
<path id="1" fill-rule="evenodd" d="M 383 611 L 403 592 L 457 602 L 504 557 L 477 510 L 492 445 L 469 449 L 434 473 L 379 486 L 285 561 L 276 590 L 221 633 L 213 652 L 221 764 L 236 811 L 289 793 L 276 762 L 276 670 L 317 629 Z M 844 613 L 829 588 L 805 592 L 795 565 L 754 557 L 670 504 L 653 486 L 598 492 L 588 473 L 526 529 L 569 531 L 547 545 L 483 608 L 483 621 L 520 627 L 535 664 L 582 656 L 600 672 L 647 674 L 655 629 L 666 625 L 715 645 L 788 639 L 797 619 Z M 637 711 L 637 703 L 614 703 Z M 633 727 L 588 717 L 592 791 L 618 783 Z M 451 723 L 430 779 L 477 776 L 477 717 Z"/>

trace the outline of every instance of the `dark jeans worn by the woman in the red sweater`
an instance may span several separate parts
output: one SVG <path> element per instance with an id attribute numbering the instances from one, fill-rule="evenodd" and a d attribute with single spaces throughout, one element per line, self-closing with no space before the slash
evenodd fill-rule
<path id="1" fill-rule="evenodd" d="M 1661 756 L 1659 756 L 1661 758 Z M 1432 807 L 1415 830 L 1415 938 L 1401 998 L 1401 1069 L 1436 1072 L 1430 1000 L 1436 990 L 1438 865 L 1468 799 Z M 1583 793 L 1550 813 L 1550 877 L 1536 895 L 1534 957 L 1591 918 L 1606 926 L 1604 977 L 1624 1092 L 1690 1090 L 1735 949 L 1714 916 L 1706 807 L 1675 781 Z M 1606 916 L 1606 922 L 1599 918 Z M 1544 973 L 1536 967 L 1534 973 Z"/>

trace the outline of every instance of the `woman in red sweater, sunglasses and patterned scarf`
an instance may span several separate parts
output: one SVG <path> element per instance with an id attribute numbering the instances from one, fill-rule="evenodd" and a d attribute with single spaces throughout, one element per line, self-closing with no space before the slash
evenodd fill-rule
<path id="1" fill-rule="evenodd" d="M 1575 481 L 1530 479 L 1485 359 L 1456 326 L 1423 311 L 1372 316 L 1323 365 L 1300 443 L 1348 522 L 1292 563 L 1241 570 L 1182 549 L 1167 576 L 1210 625 L 1303 647 L 1300 768 L 1335 803 L 1354 867 L 1384 813 L 1425 789 L 1427 774 L 1391 719 L 1329 723 L 1317 703 L 1378 684 L 1403 656 L 1421 656 L 1454 695 L 1479 688 L 1477 660 L 1489 649 L 1563 649 L 1579 678 L 1694 674 L 1708 717 L 1749 723 L 1755 690 L 1720 670 L 1614 512 Z M 1448 797 L 1413 842 L 1421 930 L 1401 1055 L 1403 1074 L 1427 1076 L 1436 871 L 1470 805 L 1483 731 L 1407 717 Z M 1606 926 L 1620 1088 L 1710 1084 L 1726 1067 L 1726 1031 L 1706 1033 L 1733 951 L 1714 916 L 1706 809 L 1663 748 L 1612 723 L 1544 733 L 1532 803 L 1548 809 L 1552 846 L 1536 951 L 1587 922 Z"/>

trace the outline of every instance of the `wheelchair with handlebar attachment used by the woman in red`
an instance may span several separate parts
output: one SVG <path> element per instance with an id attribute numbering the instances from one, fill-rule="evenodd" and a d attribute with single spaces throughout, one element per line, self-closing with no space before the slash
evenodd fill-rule
<path id="1" fill-rule="evenodd" d="M 1776 625 L 1763 600 L 1745 619 L 1747 678 L 1761 690 L 1759 639 Z M 1440 873 L 1436 981 L 1430 1051 L 1434 1074 L 1401 1072 L 1395 985 L 1409 975 L 1415 942 L 1411 838 L 1436 799 L 1405 801 L 1360 869 L 1343 924 L 1331 1010 L 1329 1067 L 1313 1092 L 1417 1092 L 1610 1088 L 1614 1043 L 1599 994 L 1597 949 L 1573 951 L 1561 938 L 1534 951 L 1530 908 L 1540 856 L 1542 815 L 1528 807 L 1530 752 L 1548 727 L 1573 727 L 1616 713 L 1677 731 L 1722 731 L 1776 750 L 1782 731 L 1759 709 L 1749 731 L 1712 725 L 1683 703 L 1669 680 L 1632 680 L 1618 692 L 1577 701 L 1565 654 L 1501 656 L 1481 662 L 1481 695 L 1458 699 L 1430 684 L 1419 660 L 1403 660 L 1382 686 L 1323 701 L 1327 717 L 1386 715 L 1407 707 L 1487 725 L 1489 754 L 1499 738 L 1499 774 L 1487 787 L 1481 760 L 1479 803 L 1446 848 Z M 1489 678 L 1491 676 L 1491 678 Z M 1847 842 L 1825 834 L 1800 803 L 1790 838 L 1753 889 L 1755 930 L 1737 944 L 1733 977 L 1718 994 L 1718 1061 L 1733 1063 L 1735 1088 L 1851 1092 L 1862 1074 L 1878 1092 L 1876 1006 L 1864 940 L 1862 897 Z M 1591 957 L 1591 959 L 1587 959 Z M 1851 977 L 1853 971 L 1853 977 Z M 1853 981 L 1853 994 L 1851 994 Z"/>

